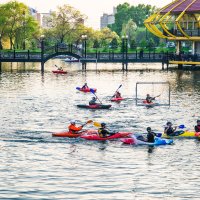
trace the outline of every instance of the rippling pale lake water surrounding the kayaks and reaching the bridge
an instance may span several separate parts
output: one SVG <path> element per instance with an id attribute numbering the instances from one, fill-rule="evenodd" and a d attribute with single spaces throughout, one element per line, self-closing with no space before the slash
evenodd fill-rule
<path id="1" fill-rule="evenodd" d="M 62 65 L 67 75 L 51 73 Z M 0 199 L 200 199 L 200 141 L 177 139 L 174 145 L 122 145 L 120 141 L 93 142 L 52 138 L 71 119 L 106 122 L 110 129 L 162 131 L 170 120 L 193 130 L 199 117 L 200 72 L 160 71 L 161 65 L 90 64 L 87 73 L 78 64 L 60 60 L 46 63 L 45 73 L 35 64 L 6 64 L 0 75 Z M 150 68 L 150 70 L 149 70 Z M 100 71 L 99 71 L 100 70 Z M 171 106 L 147 109 L 135 106 L 138 81 L 169 81 Z M 128 99 L 112 109 L 84 110 L 76 104 L 92 95 L 75 90 L 87 82 L 97 88 L 104 103 L 117 87 Z M 145 91 L 146 92 L 146 91 Z M 150 93 L 152 92 L 149 91 Z M 164 93 L 163 93 L 164 94 Z M 87 128 L 94 128 L 87 126 Z"/>

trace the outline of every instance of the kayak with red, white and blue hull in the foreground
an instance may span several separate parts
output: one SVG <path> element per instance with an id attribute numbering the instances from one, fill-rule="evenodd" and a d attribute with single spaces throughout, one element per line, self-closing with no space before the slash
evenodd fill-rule
<path id="1" fill-rule="evenodd" d="M 172 144 L 173 140 L 170 139 L 162 139 L 162 138 L 155 138 L 154 143 L 145 142 L 142 140 L 138 140 L 136 137 L 132 138 L 122 138 L 120 139 L 124 144 L 132 144 L 132 145 L 166 145 L 166 144 Z"/>

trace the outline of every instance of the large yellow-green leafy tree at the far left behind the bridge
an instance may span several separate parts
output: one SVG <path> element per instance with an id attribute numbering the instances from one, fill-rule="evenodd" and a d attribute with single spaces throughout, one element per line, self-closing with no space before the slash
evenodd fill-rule
<path id="1" fill-rule="evenodd" d="M 20 2 L 11 1 L 0 5 L 0 31 L 2 37 L 8 37 L 10 49 L 22 47 L 25 40 L 39 30 L 36 20 L 30 16 L 28 7 Z"/>

